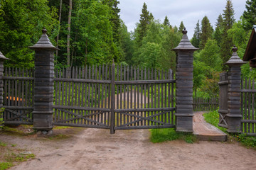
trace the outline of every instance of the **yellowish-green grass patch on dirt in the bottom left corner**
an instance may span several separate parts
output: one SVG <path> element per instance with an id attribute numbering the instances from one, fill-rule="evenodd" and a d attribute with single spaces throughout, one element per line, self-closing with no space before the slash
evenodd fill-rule
<path id="1" fill-rule="evenodd" d="M 0 141 L 0 170 L 9 169 L 19 162 L 26 162 L 33 159 L 34 154 L 24 152 L 24 149 L 16 148 L 14 144 L 8 144 Z"/>

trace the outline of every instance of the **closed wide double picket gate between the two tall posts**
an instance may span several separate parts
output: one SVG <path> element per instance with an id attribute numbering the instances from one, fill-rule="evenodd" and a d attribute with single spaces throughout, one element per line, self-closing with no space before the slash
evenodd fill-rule
<path id="1" fill-rule="evenodd" d="M 171 69 L 112 64 L 55 71 L 53 125 L 174 128 L 174 83 Z"/>

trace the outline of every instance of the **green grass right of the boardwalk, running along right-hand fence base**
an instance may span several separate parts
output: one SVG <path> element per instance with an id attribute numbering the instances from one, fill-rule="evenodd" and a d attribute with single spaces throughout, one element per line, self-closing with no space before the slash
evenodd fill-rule
<path id="1" fill-rule="evenodd" d="M 225 128 L 218 126 L 219 114 L 218 111 L 210 111 L 209 113 L 203 114 L 205 117 L 206 122 L 214 125 L 215 127 L 219 128 L 223 132 L 227 132 Z M 230 134 L 235 139 L 242 143 L 245 147 L 252 147 L 256 149 L 256 137 L 248 137 L 246 134 Z"/>

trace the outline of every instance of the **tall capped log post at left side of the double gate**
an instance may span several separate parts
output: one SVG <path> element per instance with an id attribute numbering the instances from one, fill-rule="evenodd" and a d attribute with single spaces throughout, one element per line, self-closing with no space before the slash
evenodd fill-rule
<path id="1" fill-rule="evenodd" d="M 50 134 L 53 128 L 54 51 L 58 49 L 48 39 L 47 30 L 43 28 L 42 32 L 36 45 L 30 47 L 36 51 L 33 128 Z"/>

